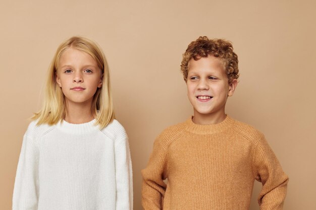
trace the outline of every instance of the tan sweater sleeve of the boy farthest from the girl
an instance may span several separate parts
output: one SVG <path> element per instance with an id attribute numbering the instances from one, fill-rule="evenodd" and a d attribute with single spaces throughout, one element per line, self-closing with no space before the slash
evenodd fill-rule
<path id="1" fill-rule="evenodd" d="M 253 164 L 255 179 L 262 183 L 260 210 L 282 210 L 289 178 L 263 135 L 256 145 Z"/>

